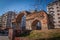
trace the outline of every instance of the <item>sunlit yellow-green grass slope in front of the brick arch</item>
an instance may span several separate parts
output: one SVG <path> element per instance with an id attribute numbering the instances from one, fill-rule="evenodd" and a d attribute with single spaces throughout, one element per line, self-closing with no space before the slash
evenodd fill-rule
<path id="1" fill-rule="evenodd" d="M 30 32 L 30 35 L 28 35 L 29 38 L 34 39 L 40 39 L 40 38 L 54 38 L 54 37 L 60 37 L 60 32 L 54 32 L 54 31 L 32 31 Z"/>

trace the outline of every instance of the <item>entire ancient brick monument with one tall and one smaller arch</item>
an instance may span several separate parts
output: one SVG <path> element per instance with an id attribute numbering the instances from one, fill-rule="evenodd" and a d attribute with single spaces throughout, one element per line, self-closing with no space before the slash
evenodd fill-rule
<path id="1" fill-rule="evenodd" d="M 24 15 L 26 15 L 26 30 L 35 30 L 33 29 L 35 28 L 33 25 L 35 26 L 38 21 L 41 23 L 42 30 L 48 29 L 48 18 L 45 11 L 34 11 L 30 13 L 24 11 L 19 13 L 14 21 L 17 28 L 19 28 L 19 24 L 21 24 L 21 19 Z"/>

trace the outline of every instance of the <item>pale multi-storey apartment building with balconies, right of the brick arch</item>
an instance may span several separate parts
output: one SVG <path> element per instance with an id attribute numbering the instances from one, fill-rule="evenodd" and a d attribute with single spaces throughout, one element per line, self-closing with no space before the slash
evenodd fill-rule
<path id="1" fill-rule="evenodd" d="M 49 3 L 47 11 L 51 15 L 50 21 L 54 24 L 54 28 L 60 28 L 60 1 Z"/>

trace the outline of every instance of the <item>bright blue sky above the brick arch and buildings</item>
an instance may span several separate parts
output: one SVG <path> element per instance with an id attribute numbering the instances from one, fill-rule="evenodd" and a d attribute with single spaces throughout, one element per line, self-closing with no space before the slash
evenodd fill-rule
<path id="1" fill-rule="evenodd" d="M 20 12 L 24 10 L 35 10 L 34 5 L 38 4 L 38 9 L 46 11 L 46 6 L 53 0 L 0 0 L 0 15 L 7 11 Z"/>

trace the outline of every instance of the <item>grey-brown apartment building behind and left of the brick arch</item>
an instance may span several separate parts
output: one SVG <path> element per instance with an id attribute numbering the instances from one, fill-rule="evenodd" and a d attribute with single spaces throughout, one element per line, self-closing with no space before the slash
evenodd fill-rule
<path id="1" fill-rule="evenodd" d="M 12 11 L 8 11 L 7 13 L 2 15 L 2 27 L 10 28 L 13 27 L 12 20 L 15 19 L 16 13 Z"/>

